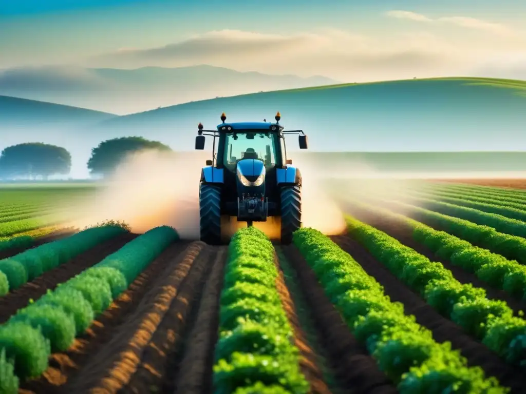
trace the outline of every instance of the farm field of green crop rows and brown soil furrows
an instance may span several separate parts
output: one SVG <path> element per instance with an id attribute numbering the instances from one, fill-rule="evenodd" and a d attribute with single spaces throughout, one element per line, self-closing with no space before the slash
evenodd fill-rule
<path id="1" fill-rule="evenodd" d="M 91 187 L 2 189 L 0 231 L 47 229 Z M 526 192 L 367 190 L 338 201 L 347 233 L 291 245 L 59 219 L 7 234 L 0 393 L 526 392 Z"/>

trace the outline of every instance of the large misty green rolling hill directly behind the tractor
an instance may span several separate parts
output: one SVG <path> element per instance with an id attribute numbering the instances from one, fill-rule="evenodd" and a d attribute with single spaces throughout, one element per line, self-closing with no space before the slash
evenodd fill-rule
<path id="1" fill-rule="evenodd" d="M 526 82 L 436 78 L 341 84 L 225 97 L 109 119 L 100 135 L 139 133 L 180 150 L 197 123 L 273 120 L 309 134 L 317 151 L 526 150 Z M 289 149 L 297 144 L 289 144 Z M 207 147 L 209 149 L 209 147 Z"/>

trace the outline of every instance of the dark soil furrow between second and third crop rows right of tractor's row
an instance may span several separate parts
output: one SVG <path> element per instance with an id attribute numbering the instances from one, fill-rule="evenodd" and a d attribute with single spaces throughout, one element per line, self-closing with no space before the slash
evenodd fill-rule
<path id="1" fill-rule="evenodd" d="M 453 273 L 453 277 L 460 283 L 471 283 L 474 287 L 483 288 L 486 291 L 486 296 L 488 298 L 505 301 L 508 306 L 513 309 L 513 312 L 516 315 L 520 310 L 526 310 L 526 301 L 513 298 L 510 294 L 504 292 L 503 290 L 491 287 L 479 279 L 477 275 L 464 270 L 462 267 L 453 265 L 450 261 L 443 258 L 436 257 L 434 253 L 431 252 L 425 245 L 413 240 L 411 228 L 402 221 L 397 221 L 391 217 L 384 218 L 378 214 L 372 215 L 369 213 L 360 213 L 360 211 L 356 209 L 352 210 L 352 215 L 355 215 L 356 219 L 376 227 L 378 230 L 385 232 L 393 238 L 396 238 L 400 243 L 410 247 L 421 255 L 426 256 L 429 258 L 429 260 L 442 263 L 444 268 L 449 269 L 449 271 Z"/>

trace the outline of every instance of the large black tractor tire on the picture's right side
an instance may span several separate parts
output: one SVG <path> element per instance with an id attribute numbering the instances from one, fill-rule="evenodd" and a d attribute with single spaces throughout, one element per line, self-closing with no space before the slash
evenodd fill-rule
<path id="1" fill-rule="evenodd" d="M 292 242 L 292 233 L 301 227 L 301 186 L 281 188 L 281 244 Z"/>

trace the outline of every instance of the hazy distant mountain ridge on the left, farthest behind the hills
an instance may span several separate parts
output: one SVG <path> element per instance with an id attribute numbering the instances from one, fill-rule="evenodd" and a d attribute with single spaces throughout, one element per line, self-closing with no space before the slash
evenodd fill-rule
<path id="1" fill-rule="evenodd" d="M 267 75 L 213 66 L 179 68 L 44 67 L 0 71 L 0 94 L 133 113 L 218 96 L 336 84 L 315 76 Z"/>

